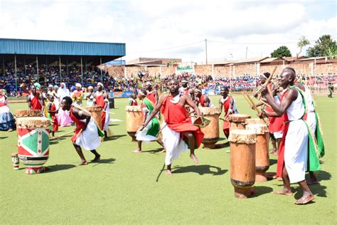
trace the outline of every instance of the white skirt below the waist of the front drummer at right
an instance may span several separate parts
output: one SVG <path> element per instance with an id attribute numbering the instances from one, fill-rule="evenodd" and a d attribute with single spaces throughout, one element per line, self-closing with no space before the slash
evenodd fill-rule
<path id="1" fill-rule="evenodd" d="M 284 144 L 284 165 L 291 183 L 305 179 L 308 162 L 308 130 L 304 120 L 290 122 Z"/>

